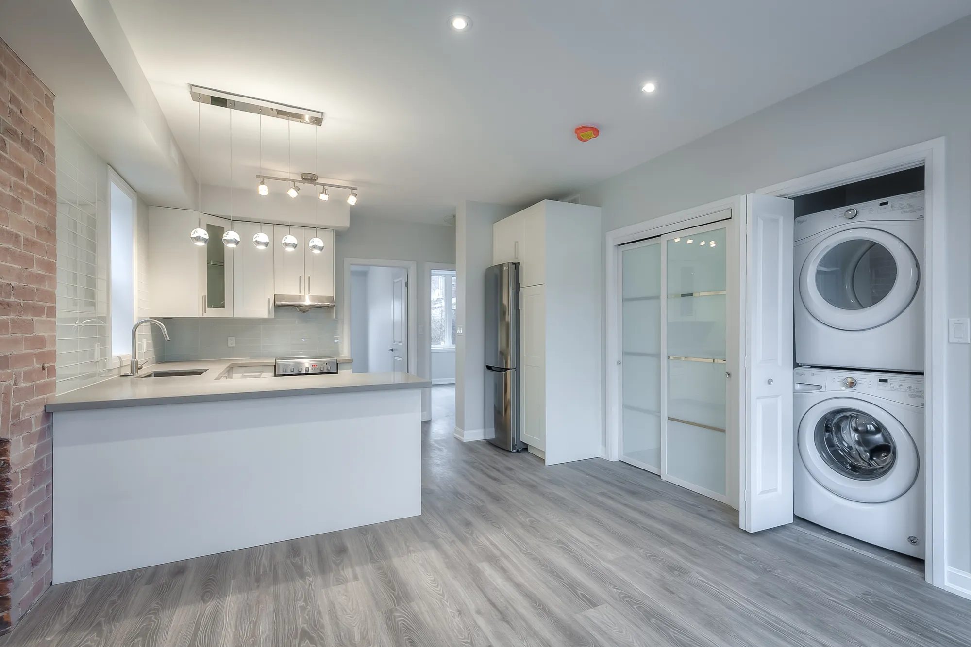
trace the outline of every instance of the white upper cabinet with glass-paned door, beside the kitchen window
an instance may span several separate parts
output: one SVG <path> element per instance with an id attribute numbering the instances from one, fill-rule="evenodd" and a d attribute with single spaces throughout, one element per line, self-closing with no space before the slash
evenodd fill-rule
<path id="1" fill-rule="evenodd" d="M 196 227 L 209 233 L 209 243 L 189 240 Z M 149 208 L 152 316 L 233 316 L 233 257 L 222 244 L 228 229 L 229 220 L 207 213 Z"/>

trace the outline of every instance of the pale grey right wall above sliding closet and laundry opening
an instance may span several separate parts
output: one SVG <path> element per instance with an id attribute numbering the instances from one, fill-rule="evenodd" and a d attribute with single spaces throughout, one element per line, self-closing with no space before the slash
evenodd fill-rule
<path id="1" fill-rule="evenodd" d="M 747 193 L 937 137 L 947 139 L 947 316 L 971 314 L 971 18 L 587 187 L 604 230 Z M 943 277 L 942 277 L 943 279 Z M 934 331 L 946 335 L 947 331 Z M 971 346 L 945 358 L 948 566 L 971 571 Z M 964 571 L 962 574 L 959 571 Z M 955 580 L 956 581 L 956 580 Z M 971 583 L 971 578 L 965 584 Z"/>

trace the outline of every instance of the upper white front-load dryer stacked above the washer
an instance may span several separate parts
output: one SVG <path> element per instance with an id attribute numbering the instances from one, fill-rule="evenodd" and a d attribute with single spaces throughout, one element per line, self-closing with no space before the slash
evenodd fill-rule
<path id="1" fill-rule="evenodd" d="M 923 372 L 923 191 L 795 219 L 796 364 Z"/>

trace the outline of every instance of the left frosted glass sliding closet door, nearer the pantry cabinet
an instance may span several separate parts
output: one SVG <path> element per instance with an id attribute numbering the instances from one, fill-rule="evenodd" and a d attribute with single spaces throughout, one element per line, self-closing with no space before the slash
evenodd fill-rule
<path id="1" fill-rule="evenodd" d="M 661 241 L 620 251 L 621 460 L 661 469 Z"/>

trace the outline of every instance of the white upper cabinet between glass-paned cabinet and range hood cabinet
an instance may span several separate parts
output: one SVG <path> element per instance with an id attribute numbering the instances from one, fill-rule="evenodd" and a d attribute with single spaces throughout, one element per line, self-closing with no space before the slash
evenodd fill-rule
<path id="1" fill-rule="evenodd" d="M 260 249 L 252 244 L 252 237 L 260 230 L 259 224 L 236 221 L 233 226 L 241 239 L 239 246 L 231 252 L 233 316 L 272 317 L 273 250 L 269 247 Z"/>

